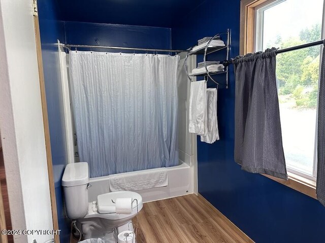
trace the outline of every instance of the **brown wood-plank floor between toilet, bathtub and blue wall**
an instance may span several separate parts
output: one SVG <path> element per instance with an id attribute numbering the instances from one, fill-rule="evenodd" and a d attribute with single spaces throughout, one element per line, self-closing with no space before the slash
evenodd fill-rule
<path id="1" fill-rule="evenodd" d="M 201 195 L 145 203 L 138 220 L 137 243 L 254 242 Z"/>

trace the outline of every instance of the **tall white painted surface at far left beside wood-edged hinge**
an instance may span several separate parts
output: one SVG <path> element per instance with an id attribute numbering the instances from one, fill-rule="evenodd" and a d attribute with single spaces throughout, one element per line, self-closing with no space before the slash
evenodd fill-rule
<path id="1" fill-rule="evenodd" d="M 0 0 L 0 130 L 14 229 L 53 229 L 31 1 Z M 15 243 L 53 235 L 19 235 Z"/>

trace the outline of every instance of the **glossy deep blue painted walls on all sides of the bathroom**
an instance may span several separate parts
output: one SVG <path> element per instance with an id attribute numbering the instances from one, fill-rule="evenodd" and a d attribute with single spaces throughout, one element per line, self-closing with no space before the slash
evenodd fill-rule
<path id="1" fill-rule="evenodd" d="M 56 39 L 70 44 L 161 49 L 169 49 L 172 43 L 173 49 L 187 49 L 201 37 L 231 28 L 231 57 L 235 57 L 239 54 L 240 0 L 206 0 L 192 12 L 178 9 L 178 18 L 168 24 L 173 26 L 172 30 L 83 22 L 63 23 L 58 21 L 59 17 L 61 20 L 64 18 L 57 15 L 59 8 L 56 3 L 55 0 L 39 0 L 39 14 L 57 209 L 59 227 L 62 230 L 60 238 L 61 242 L 68 242 L 70 226 L 64 216 L 60 187 L 67 159 L 63 147 L 58 56 L 57 48 L 53 45 Z M 85 21 L 89 18 L 86 17 Z M 199 192 L 256 242 L 323 242 L 325 209 L 316 200 L 264 176 L 244 172 L 235 163 L 234 82 L 231 67 L 230 89 L 220 89 L 218 93 L 221 140 L 212 145 L 198 140 Z"/>

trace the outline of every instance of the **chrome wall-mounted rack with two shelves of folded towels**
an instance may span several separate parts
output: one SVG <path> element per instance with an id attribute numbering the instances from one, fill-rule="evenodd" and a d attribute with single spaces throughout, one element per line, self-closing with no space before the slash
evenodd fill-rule
<path id="1" fill-rule="evenodd" d="M 218 40 L 221 38 L 221 36 L 226 36 L 226 43 L 224 45 L 212 45 L 213 41 Z M 213 36 L 207 43 L 202 44 L 201 46 L 193 46 L 189 49 L 187 52 L 186 58 L 185 58 L 185 71 L 190 81 L 192 81 L 192 77 L 196 76 L 204 76 L 206 80 L 209 78 L 219 85 L 224 85 L 225 88 L 228 88 L 228 79 L 229 79 L 229 65 L 224 65 L 223 71 L 209 71 L 208 65 L 207 65 L 207 55 L 211 53 L 215 53 L 217 51 L 226 49 L 226 61 L 220 62 L 220 64 L 228 63 L 229 60 L 229 54 L 230 54 L 230 45 L 231 45 L 231 33 L 230 29 L 227 29 L 226 32 L 218 33 L 215 36 Z M 203 55 L 203 61 L 204 61 L 204 69 L 205 71 L 200 73 L 189 73 L 187 70 L 187 58 L 191 55 Z M 217 82 L 212 76 L 215 76 L 216 74 L 223 74 L 225 73 L 225 84 Z"/>

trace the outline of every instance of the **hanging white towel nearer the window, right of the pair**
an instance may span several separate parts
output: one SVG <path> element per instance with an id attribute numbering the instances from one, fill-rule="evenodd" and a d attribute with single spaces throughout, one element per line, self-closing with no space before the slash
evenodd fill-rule
<path id="1" fill-rule="evenodd" d="M 207 131 L 201 142 L 214 143 L 219 140 L 217 118 L 217 89 L 207 89 Z"/>

